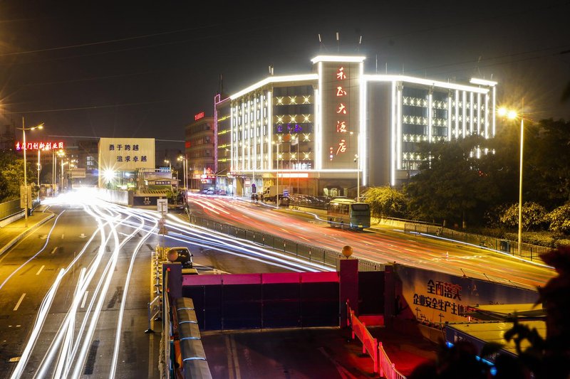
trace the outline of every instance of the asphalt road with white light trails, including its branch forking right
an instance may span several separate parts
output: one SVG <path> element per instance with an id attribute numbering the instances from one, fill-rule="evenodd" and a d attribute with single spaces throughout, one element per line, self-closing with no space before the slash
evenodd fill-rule
<path id="1" fill-rule="evenodd" d="M 156 378 L 160 333 L 144 331 L 157 244 L 189 247 L 202 273 L 323 270 L 176 217 L 156 235 L 156 212 L 92 198 L 58 198 L 49 211 L 56 217 L 0 257 L 6 377 Z"/>

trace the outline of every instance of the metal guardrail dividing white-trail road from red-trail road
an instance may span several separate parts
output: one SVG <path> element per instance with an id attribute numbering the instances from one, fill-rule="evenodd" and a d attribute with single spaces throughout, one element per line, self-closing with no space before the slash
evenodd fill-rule
<path id="1" fill-rule="evenodd" d="M 317 262 L 328 267 L 336 267 L 340 265 L 340 260 L 343 255 L 339 251 L 328 250 L 321 247 L 314 247 L 299 243 L 294 240 L 277 237 L 268 233 L 263 233 L 259 230 L 249 230 L 238 228 L 234 225 L 219 223 L 217 221 L 209 220 L 208 218 L 200 218 L 195 215 L 190 216 L 190 223 L 202 226 L 203 228 L 215 230 L 219 233 L 231 235 L 233 237 L 241 238 L 255 242 L 261 246 L 270 247 L 274 250 L 279 250 L 296 258 L 307 260 L 309 262 Z M 383 271 L 384 264 L 358 258 L 359 271 Z"/>

